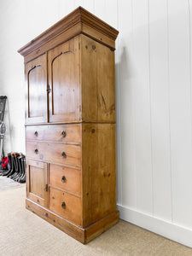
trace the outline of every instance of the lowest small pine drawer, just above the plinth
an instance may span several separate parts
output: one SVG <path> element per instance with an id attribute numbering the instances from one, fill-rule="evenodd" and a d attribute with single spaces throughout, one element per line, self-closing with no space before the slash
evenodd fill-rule
<path id="1" fill-rule="evenodd" d="M 74 195 L 49 187 L 49 210 L 81 225 L 81 200 Z"/>

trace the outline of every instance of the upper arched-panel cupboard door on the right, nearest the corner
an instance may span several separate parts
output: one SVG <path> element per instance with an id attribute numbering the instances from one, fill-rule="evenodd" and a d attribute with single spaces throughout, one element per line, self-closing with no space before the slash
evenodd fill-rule
<path id="1" fill-rule="evenodd" d="M 79 37 L 48 52 L 49 122 L 79 120 Z"/>

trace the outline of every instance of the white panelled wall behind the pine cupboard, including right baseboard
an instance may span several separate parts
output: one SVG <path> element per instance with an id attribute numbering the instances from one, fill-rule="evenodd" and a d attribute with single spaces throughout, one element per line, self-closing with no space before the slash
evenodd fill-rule
<path id="1" fill-rule="evenodd" d="M 25 151 L 23 59 L 16 52 L 79 5 L 119 30 L 120 217 L 192 247 L 192 0 L 2 0 L 0 94 L 6 150 Z"/>

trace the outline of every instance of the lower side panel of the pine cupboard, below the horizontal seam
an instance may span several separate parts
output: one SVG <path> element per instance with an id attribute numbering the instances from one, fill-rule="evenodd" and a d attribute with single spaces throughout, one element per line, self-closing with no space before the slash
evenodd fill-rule
<path id="1" fill-rule="evenodd" d="M 82 125 L 83 227 L 116 210 L 115 125 Z"/>

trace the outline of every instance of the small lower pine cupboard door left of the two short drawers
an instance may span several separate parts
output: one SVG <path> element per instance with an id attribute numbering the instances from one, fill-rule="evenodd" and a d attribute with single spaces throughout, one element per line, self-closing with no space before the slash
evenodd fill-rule
<path id="1" fill-rule="evenodd" d="M 26 161 L 26 197 L 48 206 L 48 166 L 44 162 Z"/>

